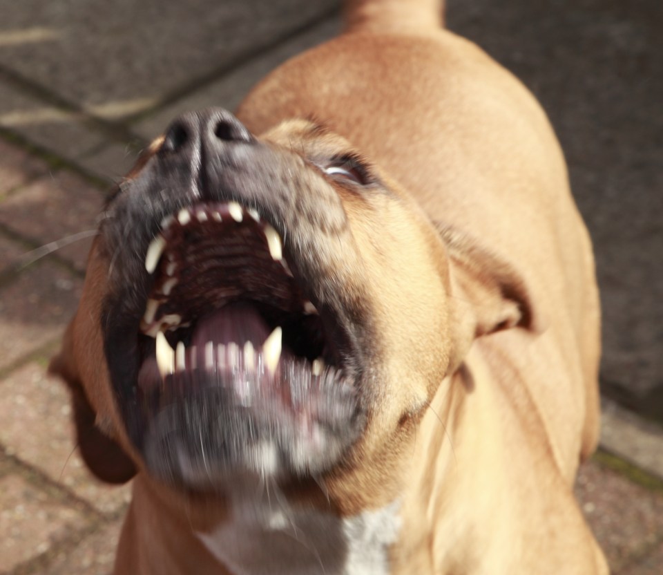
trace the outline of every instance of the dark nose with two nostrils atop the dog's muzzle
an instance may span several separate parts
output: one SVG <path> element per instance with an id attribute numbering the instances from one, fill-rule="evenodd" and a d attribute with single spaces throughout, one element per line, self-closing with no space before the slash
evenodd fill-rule
<path id="1" fill-rule="evenodd" d="M 232 142 L 252 140 L 244 124 L 229 111 L 209 108 L 177 117 L 166 130 L 162 149 L 169 153 L 187 153 L 202 148 L 219 153 Z"/>

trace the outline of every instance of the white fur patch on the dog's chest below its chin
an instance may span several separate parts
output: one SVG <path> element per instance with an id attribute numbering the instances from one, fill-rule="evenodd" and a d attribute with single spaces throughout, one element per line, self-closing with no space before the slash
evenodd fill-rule
<path id="1" fill-rule="evenodd" d="M 351 518 L 238 502 L 233 520 L 198 533 L 236 575 L 388 575 L 400 528 L 398 502 Z"/>

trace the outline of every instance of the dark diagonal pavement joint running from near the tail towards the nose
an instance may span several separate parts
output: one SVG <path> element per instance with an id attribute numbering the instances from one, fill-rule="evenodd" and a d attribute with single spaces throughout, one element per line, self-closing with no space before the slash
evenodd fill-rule
<path id="1" fill-rule="evenodd" d="M 170 106 L 171 104 L 174 104 L 178 100 L 183 100 L 185 97 L 193 94 L 194 92 L 213 84 L 223 76 L 233 73 L 238 68 L 242 68 L 242 66 L 250 64 L 253 62 L 253 60 L 259 59 L 260 57 L 269 53 L 271 50 L 278 48 L 280 44 L 286 44 L 288 41 L 294 40 L 298 36 L 305 34 L 305 32 L 308 32 L 311 30 L 311 28 L 315 28 L 316 26 L 319 26 L 320 24 L 334 17 L 337 17 L 339 13 L 340 9 L 337 6 L 334 6 L 325 10 L 321 14 L 311 17 L 309 21 L 302 23 L 297 28 L 287 30 L 287 32 L 267 42 L 267 44 L 261 44 L 256 48 L 247 48 L 247 50 L 244 50 L 242 53 L 232 58 L 229 62 L 225 62 L 217 68 L 212 68 L 209 70 L 209 72 L 201 74 L 200 76 L 191 79 L 189 82 L 186 82 L 186 84 L 180 88 L 175 88 L 170 93 L 166 93 L 166 95 L 162 96 L 156 104 L 149 107 L 148 109 L 127 115 L 124 118 L 124 122 L 126 122 L 126 124 L 132 125 L 146 120 L 148 117 L 155 115 L 162 109 Z"/>

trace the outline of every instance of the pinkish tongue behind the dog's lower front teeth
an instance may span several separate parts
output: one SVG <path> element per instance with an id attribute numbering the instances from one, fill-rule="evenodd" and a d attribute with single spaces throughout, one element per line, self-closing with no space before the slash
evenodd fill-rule
<path id="1" fill-rule="evenodd" d="M 233 342 L 242 348 L 251 341 L 254 348 L 260 348 L 268 335 L 269 327 L 255 308 L 233 303 L 200 319 L 191 344 L 202 349 L 209 341 L 215 346 Z"/>

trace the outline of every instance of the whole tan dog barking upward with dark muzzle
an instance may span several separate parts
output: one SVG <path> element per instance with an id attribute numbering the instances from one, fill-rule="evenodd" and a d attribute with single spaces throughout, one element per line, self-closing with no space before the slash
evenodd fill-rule
<path id="1" fill-rule="evenodd" d="M 90 469 L 135 475 L 117 574 L 607 572 L 590 241 L 544 112 L 440 9 L 351 3 L 109 201 L 52 370 Z"/>

